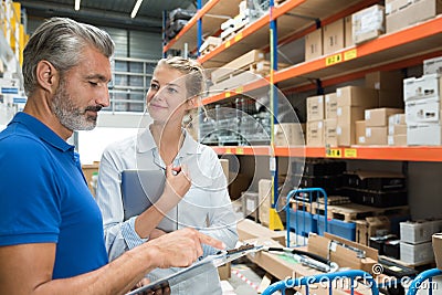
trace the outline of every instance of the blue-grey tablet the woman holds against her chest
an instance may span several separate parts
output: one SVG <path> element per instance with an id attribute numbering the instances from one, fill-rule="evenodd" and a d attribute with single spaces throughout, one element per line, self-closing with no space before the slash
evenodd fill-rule
<path id="1" fill-rule="evenodd" d="M 124 170 L 122 172 L 124 220 L 139 215 L 158 201 L 165 189 L 165 182 L 164 170 Z M 178 206 L 167 212 L 157 228 L 166 232 L 177 230 L 177 210 Z"/>

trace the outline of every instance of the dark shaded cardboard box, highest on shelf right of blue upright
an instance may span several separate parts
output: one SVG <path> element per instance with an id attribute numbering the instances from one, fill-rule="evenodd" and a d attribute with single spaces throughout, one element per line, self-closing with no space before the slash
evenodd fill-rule
<path id="1" fill-rule="evenodd" d="M 377 71 L 366 75 L 366 87 L 378 91 L 398 91 L 402 93 L 402 81 L 403 75 L 400 71 Z"/>

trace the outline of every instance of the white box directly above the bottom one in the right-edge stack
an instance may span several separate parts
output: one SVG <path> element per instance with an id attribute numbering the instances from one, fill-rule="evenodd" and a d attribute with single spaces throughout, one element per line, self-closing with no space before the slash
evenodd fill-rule
<path id="1" fill-rule="evenodd" d="M 439 98 L 410 101 L 406 103 L 406 122 L 408 125 L 440 122 L 441 103 Z"/>

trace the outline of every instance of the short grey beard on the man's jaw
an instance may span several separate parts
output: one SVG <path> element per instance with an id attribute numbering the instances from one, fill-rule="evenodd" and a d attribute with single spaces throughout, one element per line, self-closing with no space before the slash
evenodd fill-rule
<path id="1" fill-rule="evenodd" d="M 61 81 L 51 103 L 51 110 L 59 118 L 60 123 L 71 131 L 92 130 L 96 126 L 96 118 L 87 116 L 86 109 L 76 107 L 73 104 L 72 96 L 66 92 L 64 86 L 64 81 Z"/>

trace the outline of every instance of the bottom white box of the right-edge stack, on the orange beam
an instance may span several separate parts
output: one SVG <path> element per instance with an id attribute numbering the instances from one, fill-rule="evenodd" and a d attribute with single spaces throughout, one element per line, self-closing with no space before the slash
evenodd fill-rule
<path id="1" fill-rule="evenodd" d="M 442 127 L 439 124 L 407 125 L 408 146 L 442 145 Z"/>

